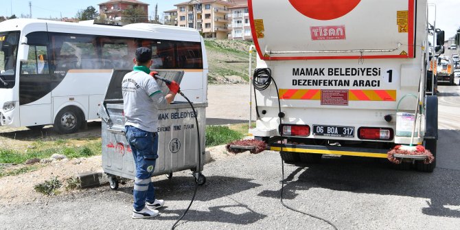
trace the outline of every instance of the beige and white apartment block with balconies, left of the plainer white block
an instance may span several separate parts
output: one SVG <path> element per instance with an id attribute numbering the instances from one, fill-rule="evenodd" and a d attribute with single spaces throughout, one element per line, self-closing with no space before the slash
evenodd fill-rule
<path id="1" fill-rule="evenodd" d="M 195 28 L 205 38 L 228 38 L 228 14 L 233 1 L 192 0 L 174 6 L 177 7 L 177 26 Z"/>

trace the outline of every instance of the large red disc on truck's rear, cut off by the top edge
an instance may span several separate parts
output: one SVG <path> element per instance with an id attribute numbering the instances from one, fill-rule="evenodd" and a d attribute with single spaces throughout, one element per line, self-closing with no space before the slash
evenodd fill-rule
<path id="1" fill-rule="evenodd" d="M 348 14 L 361 0 L 289 0 L 301 14 L 317 20 L 337 19 Z"/>

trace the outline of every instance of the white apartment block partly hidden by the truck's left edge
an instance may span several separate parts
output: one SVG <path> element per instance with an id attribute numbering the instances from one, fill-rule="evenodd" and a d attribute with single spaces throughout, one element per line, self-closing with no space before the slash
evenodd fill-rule
<path id="1" fill-rule="evenodd" d="M 229 10 L 229 39 L 253 41 L 247 1 L 241 5 L 229 7 Z"/>

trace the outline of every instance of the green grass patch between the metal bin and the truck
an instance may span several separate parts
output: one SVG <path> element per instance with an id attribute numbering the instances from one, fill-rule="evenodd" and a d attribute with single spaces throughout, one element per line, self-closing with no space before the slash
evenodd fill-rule
<path id="1" fill-rule="evenodd" d="M 206 126 L 206 147 L 223 145 L 243 137 L 242 133 L 227 126 Z"/>

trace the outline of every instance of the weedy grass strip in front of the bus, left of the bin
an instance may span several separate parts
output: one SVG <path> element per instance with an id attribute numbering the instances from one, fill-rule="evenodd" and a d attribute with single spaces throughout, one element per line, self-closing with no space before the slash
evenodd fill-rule
<path id="1" fill-rule="evenodd" d="M 68 146 L 67 141 L 57 140 L 41 143 L 34 142 L 34 148 L 19 152 L 17 150 L 0 148 L 0 163 L 24 163 L 27 159 L 45 159 L 52 154 L 64 154 L 68 158 L 91 157 L 101 154 L 101 141 L 88 141 L 81 146 Z"/>

